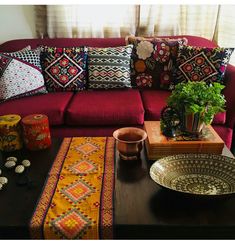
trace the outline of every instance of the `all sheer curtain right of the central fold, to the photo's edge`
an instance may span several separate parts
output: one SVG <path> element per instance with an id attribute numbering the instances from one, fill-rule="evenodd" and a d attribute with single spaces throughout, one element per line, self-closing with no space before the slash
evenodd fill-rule
<path id="1" fill-rule="evenodd" d="M 235 5 L 140 6 L 138 35 L 195 35 L 235 47 Z M 235 53 L 230 63 L 235 65 Z"/>

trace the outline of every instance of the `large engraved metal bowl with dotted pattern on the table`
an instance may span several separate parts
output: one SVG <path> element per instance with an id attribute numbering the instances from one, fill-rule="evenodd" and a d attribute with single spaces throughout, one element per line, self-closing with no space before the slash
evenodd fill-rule
<path id="1" fill-rule="evenodd" d="M 150 168 L 159 185 L 196 195 L 235 193 L 235 159 L 213 154 L 178 154 L 157 160 Z"/>

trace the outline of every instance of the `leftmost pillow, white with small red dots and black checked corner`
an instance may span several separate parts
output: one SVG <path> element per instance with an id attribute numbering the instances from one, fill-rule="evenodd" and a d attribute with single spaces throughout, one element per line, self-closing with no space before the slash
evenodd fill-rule
<path id="1" fill-rule="evenodd" d="M 0 101 L 47 93 L 40 49 L 0 53 Z"/>

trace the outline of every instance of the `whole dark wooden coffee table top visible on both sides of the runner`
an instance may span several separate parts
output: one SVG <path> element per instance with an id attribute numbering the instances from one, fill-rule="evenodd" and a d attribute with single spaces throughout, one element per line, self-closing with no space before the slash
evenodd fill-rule
<path id="1" fill-rule="evenodd" d="M 3 172 L 9 184 L 0 192 L 0 239 L 30 238 L 29 220 L 61 142 L 53 139 L 52 147 L 39 152 L 4 153 L 28 158 L 32 167 L 23 186 L 16 185 L 13 171 Z M 227 148 L 223 154 L 233 156 Z M 152 163 L 144 150 L 138 162 L 121 161 L 117 153 L 115 239 L 235 238 L 235 195 L 197 199 L 161 189 L 149 176 Z"/>

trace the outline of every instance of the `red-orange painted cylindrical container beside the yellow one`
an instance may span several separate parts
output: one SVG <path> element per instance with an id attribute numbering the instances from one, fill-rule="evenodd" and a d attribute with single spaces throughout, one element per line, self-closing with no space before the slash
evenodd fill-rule
<path id="1" fill-rule="evenodd" d="M 31 114 L 21 121 L 23 140 L 29 150 L 41 150 L 50 147 L 51 135 L 48 117 L 44 114 Z"/>

